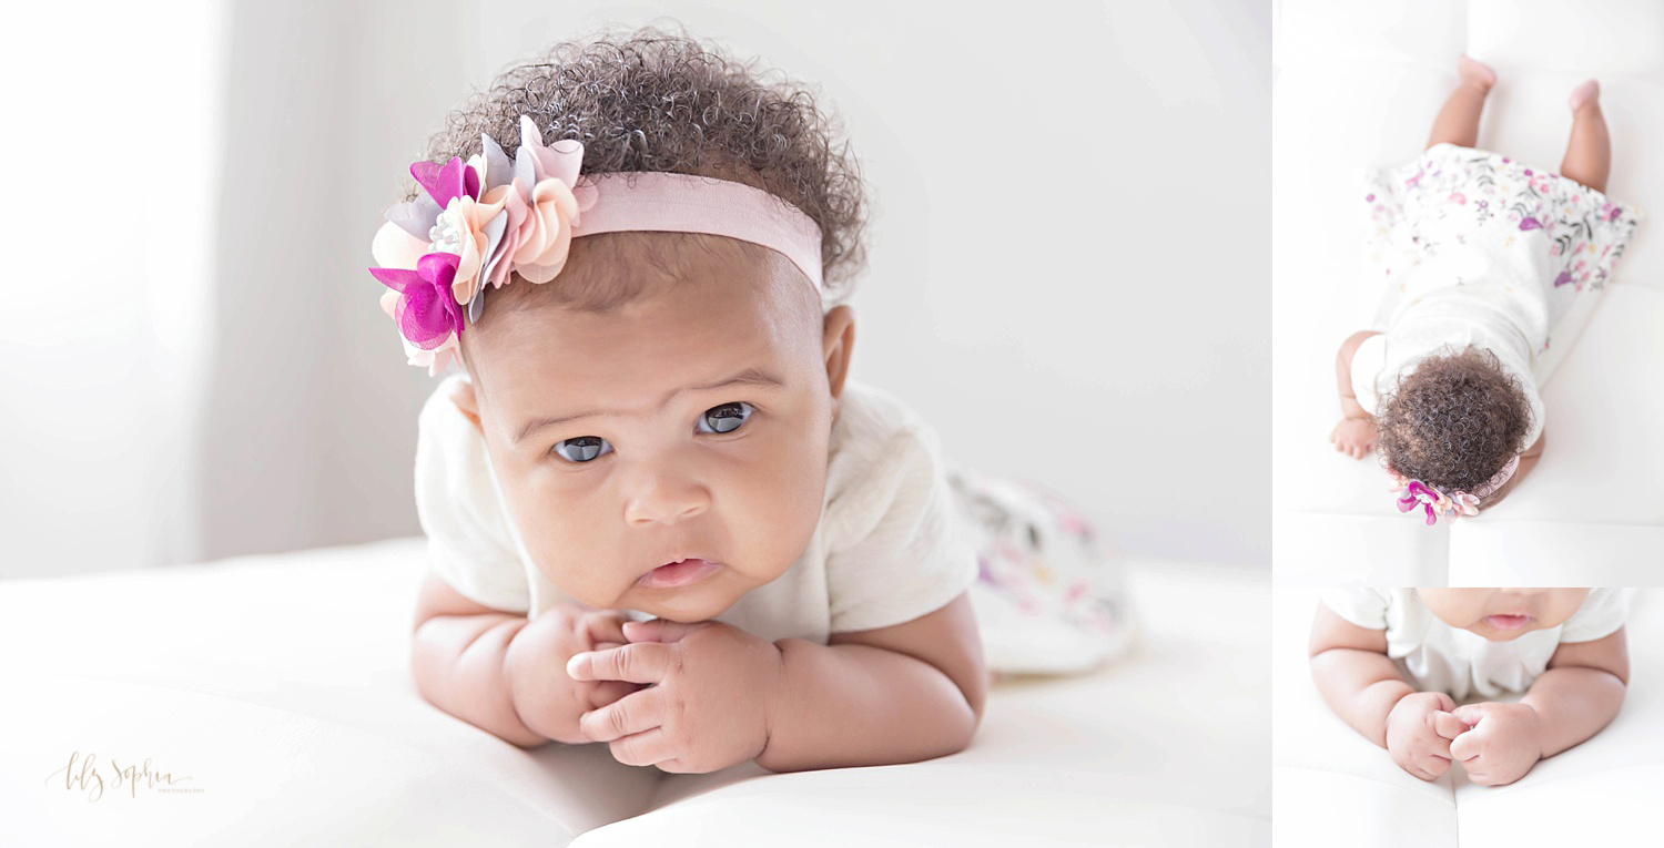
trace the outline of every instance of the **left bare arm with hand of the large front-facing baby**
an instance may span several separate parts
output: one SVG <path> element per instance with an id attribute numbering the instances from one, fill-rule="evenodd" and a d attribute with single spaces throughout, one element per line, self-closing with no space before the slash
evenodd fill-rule
<path id="1" fill-rule="evenodd" d="M 589 742 L 577 717 L 636 687 L 571 680 L 572 653 L 624 642 L 622 617 L 551 607 L 536 620 L 479 605 L 429 574 L 411 638 L 416 690 L 434 707 L 522 748 Z"/>

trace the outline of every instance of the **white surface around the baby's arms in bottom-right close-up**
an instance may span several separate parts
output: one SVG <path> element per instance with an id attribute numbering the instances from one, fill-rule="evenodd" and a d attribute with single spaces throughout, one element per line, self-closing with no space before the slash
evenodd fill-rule
<path id="1" fill-rule="evenodd" d="M 1664 798 L 1659 590 L 1636 592 L 1626 625 L 1629 692 L 1617 718 L 1508 786 L 1469 783 L 1459 767 L 1429 783 L 1393 765 L 1386 750 L 1366 742 L 1323 703 L 1311 682 L 1306 637 L 1320 592 L 1278 587 L 1271 595 L 1278 848 L 1657 845 L 1657 805 Z"/>

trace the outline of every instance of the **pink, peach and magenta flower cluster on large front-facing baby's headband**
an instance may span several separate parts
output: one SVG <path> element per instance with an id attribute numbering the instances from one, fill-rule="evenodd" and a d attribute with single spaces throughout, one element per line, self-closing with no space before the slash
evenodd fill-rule
<path id="1" fill-rule="evenodd" d="M 521 146 L 509 161 L 489 135 L 464 165 L 411 163 L 426 196 L 386 210 L 369 273 L 391 291 L 381 308 L 399 328 L 409 364 L 438 374 L 456 356 L 464 324 L 479 319 L 486 283 L 503 288 L 513 271 L 547 283 L 566 266 L 572 226 L 596 201 L 579 183 L 584 145 L 542 145 L 521 115 Z M 466 311 L 464 311 L 466 308 Z"/>

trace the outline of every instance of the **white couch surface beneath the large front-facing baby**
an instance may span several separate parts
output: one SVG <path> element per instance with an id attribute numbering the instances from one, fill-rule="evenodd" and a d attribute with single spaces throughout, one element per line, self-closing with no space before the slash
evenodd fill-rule
<path id="1" fill-rule="evenodd" d="M 662 775 L 604 745 L 524 752 L 421 700 L 424 552 L 0 582 L 0 845 L 1270 841 L 1263 574 L 1133 565 L 1132 652 L 997 685 L 958 755 Z M 97 800 L 67 781 L 73 753 L 77 773 L 97 757 Z M 146 760 L 201 791 L 113 785 Z"/>

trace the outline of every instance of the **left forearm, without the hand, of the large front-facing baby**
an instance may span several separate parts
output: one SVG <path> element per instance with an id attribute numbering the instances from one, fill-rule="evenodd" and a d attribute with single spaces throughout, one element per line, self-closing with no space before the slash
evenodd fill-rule
<path id="1" fill-rule="evenodd" d="M 534 747 L 549 742 L 529 730 L 514 710 L 504 658 L 524 615 L 436 615 L 411 643 L 416 690 L 434 707 L 498 738 Z"/>

